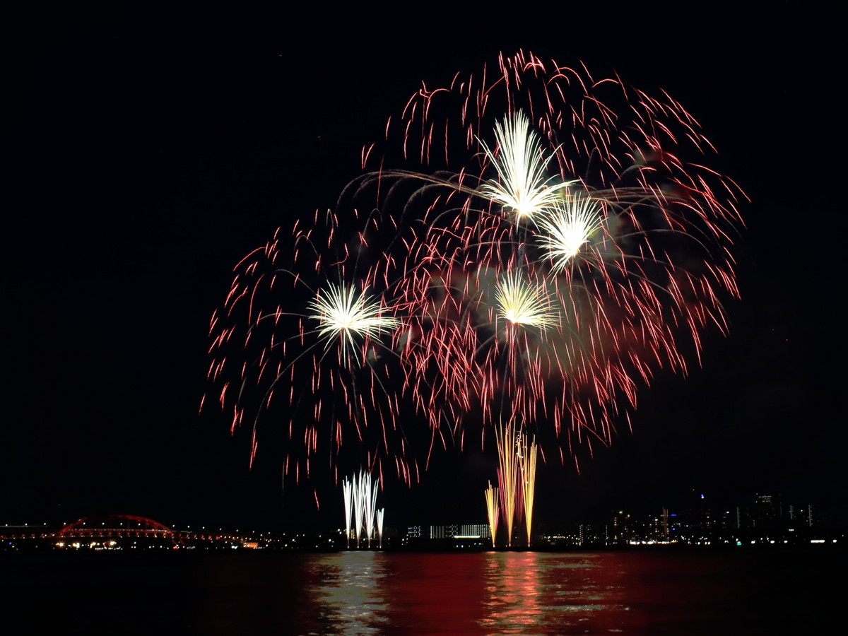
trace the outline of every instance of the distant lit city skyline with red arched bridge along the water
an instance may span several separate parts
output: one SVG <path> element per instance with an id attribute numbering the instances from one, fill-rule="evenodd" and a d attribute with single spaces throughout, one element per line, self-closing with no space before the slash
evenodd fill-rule
<path id="1" fill-rule="evenodd" d="M 347 499 L 345 494 L 344 499 Z M 544 523 L 524 543 L 522 528 L 513 542 L 488 523 L 477 523 L 466 512 L 461 520 L 444 522 L 418 518 L 383 528 L 351 524 L 347 501 L 344 525 L 312 532 L 269 531 L 263 528 L 168 526 L 142 516 L 85 516 L 56 525 L 0 525 L 3 550 L 75 549 L 135 550 L 149 548 L 269 548 L 272 550 L 582 550 L 626 546 L 804 546 L 839 547 L 848 528 L 837 520 L 840 511 L 809 503 L 784 502 L 779 495 L 753 494 L 734 506 L 716 508 L 704 495 L 686 504 L 656 510 L 607 510 L 591 519 Z M 835 513 L 835 514 L 834 514 Z"/>

